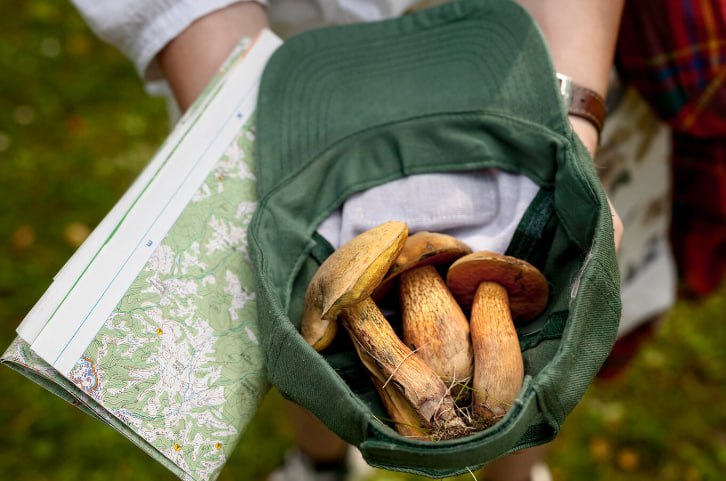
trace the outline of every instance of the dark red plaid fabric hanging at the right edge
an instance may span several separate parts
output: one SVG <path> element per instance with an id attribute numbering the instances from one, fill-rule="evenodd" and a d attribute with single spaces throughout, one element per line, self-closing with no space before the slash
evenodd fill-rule
<path id="1" fill-rule="evenodd" d="M 706 295 L 726 275 L 726 0 L 628 0 L 616 62 L 673 129 L 674 253 Z"/>

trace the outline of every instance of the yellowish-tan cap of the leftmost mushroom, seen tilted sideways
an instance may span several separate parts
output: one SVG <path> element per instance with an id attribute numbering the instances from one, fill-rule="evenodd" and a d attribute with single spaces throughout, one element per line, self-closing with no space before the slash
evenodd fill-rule
<path id="1" fill-rule="evenodd" d="M 323 262 L 305 292 L 300 330 L 308 344 L 318 351 L 330 344 L 340 311 L 370 297 L 407 236 L 406 223 L 385 222 L 354 237 Z"/>

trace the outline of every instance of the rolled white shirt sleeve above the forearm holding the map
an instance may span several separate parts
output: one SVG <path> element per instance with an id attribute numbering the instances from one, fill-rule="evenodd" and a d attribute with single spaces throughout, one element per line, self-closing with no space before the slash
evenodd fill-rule
<path id="1" fill-rule="evenodd" d="M 267 0 L 71 0 L 89 27 L 118 48 L 146 83 L 162 78 L 156 54 L 196 19 L 239 1 Z"/>

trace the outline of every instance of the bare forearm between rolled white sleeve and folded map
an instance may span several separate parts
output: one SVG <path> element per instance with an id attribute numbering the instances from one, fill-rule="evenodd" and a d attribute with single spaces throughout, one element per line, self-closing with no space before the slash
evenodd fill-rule
<path id="1" fill-rule="evenodd" d="M 170 41 L 159 65 L 182 111 L 186 110 L 243 37 L 267 27 L 265 8 L 235 3 L 201 17 Z"/>

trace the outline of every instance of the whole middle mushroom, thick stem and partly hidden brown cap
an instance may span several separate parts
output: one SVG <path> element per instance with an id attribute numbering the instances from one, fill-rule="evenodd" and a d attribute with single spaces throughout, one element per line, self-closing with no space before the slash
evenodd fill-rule
<path id="1" fill-rule="evenodd" d="M 402 337 L 456 395 L 471 378 L 469 321 L 434 266 L 448 266 L 471 248 L 455 237 L 421 231 L 406 239 L 384 279 L 400 277 Z"/>

